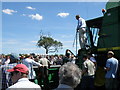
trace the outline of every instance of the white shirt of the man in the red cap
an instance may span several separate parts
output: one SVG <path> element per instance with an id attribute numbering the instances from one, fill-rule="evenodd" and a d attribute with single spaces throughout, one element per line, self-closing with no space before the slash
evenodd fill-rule
<path id="1" fill-rule="evenodd" d="M 37 84 L 35 84 L 33 82 L 30 82 L 28 80 L 28 78 L 21 78 L 21 79 L 19 79 L 17 83 L 15 83 L 14 85 L 10 86 L 6 90 L 14 90 L 14 89 L 18 90 L 16 88 L 18 88 L 19 90 L 21 88 L 24 88 L 22 90 L 27 90 L 25 88 L 28 88 L 29 90 L 41 90 L 41 87 L 39 85 L 37 85 Z"/>

